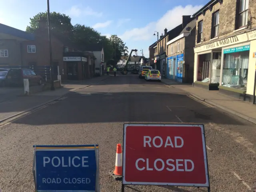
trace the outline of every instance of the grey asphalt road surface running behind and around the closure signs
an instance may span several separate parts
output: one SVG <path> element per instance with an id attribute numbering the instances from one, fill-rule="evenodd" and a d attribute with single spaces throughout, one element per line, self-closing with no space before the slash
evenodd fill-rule
<path id="1" fill-rule="evenodd" d="M 35 144 L 99 144 L 101 192 L 118 192 L 113 170 L 123 124 L 205 124 L 212 192 L 249 192 L 256 181 L 256 126 L 198 102 L 188 93 L 137 75 L 110 76 L 66 99 L 0 127 L 3 192 L 32 192 Z M 127 186 L 126 192 L 202 192 L 206 188 Z"/>

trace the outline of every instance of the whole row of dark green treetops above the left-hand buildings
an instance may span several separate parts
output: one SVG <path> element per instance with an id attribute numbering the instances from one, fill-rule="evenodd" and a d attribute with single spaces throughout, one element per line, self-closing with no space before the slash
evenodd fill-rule
<path id="1" fill-rule="evenodd" d="M 30 18 L 30 26 L 26 28 L 27 32 L 33 33 L 38 29 L 40 17 L 47 26 L 47 12 L 40 12 L 33 18 Z M 128 55 L 128 47 L 117 35 L 111 35 L 110 38 L 107 38 L 92 27 L 81 24 L 72 26 L 69 16 L 56 12 L 50 13 L 50 22 L 52 30 L 60 34 L 68 34 L 69 39 L 79 46 L 90 46 L 90 44 L 96 43 L 102 44 L 104 48 L 104 60 L 105 62 L 109 61 L 112 66 L 116 66 L 121 56 Z"/>

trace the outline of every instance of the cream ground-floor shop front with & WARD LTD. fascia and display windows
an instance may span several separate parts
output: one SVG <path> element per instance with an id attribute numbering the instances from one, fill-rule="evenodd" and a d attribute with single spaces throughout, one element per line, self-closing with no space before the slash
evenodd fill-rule
<path id="1" fill-rule="evenodd" d="M 254 34 L 256 30 L 194 48 L 194 86 L 251 100 L 256 62 L 252 56 L 256 52 Z"/>

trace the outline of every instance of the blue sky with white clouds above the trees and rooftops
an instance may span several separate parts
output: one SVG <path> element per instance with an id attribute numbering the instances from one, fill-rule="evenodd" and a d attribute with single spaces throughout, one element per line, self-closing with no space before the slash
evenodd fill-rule
<path id="1" fill-rule="evenodd" d="M 4 1 L 4 0 L 0 0 Z M 125 3 L 126 2 L 126 3 Z M 129 50 L 143 49 L 159 35 L 181 24 L 182 15 L 194 14 L 208 0 L 50 0 L 50 11 L 69 15 L 72 24 L 92 26 L 109 36 L 117 34 Z M 26 30 L 30 18 L 47 10 L 47 0 L 5 0 L 0 3 L 0 23 Z"/>

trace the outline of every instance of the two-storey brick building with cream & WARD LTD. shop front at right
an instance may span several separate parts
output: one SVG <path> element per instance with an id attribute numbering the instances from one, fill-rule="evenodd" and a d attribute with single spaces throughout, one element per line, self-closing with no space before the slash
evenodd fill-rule
<path id="1" fill-rule="evenodd" d="M 256 59 L 253 0 L 211 0 L 194 15 L 194 85 L 251 100 Z"/>

